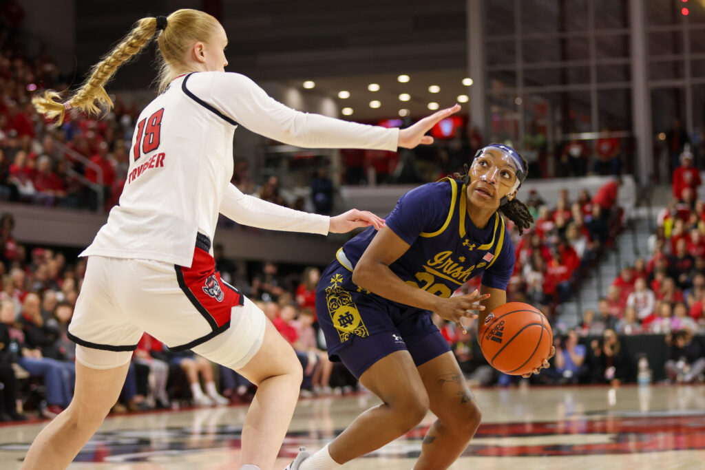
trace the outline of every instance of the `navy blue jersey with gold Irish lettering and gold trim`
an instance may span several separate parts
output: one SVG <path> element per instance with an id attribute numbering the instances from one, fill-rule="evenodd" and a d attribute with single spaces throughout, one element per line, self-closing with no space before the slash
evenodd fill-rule
<path id="1" fill-rule="evenodd" d="M 486 228 L 475 227 L 467 215 L 465 189 L 445 178 L 400 197 L 386 225 L 410 247 L 389 266 L 393 273 L 441 297 L 450 297 L 480 273 L 483 285 L 506 290 L 515 257 L 505 221 L 496 212 Z M 370 227 L 345 243 L 338 261 L 354 268 L 375 234 Z"/>

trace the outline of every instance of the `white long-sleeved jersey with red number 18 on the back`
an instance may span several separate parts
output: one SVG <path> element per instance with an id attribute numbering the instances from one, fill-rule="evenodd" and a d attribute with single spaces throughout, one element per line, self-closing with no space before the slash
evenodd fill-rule
<path id="1" fill-rule="evenodd" d="M 219 212 L 247 225 L 326 234 L 328 217 L 245 196 L 229 183 L 238 124 L 307 148 L 393 151 L 398 143 L 398 129 L 294 111 L 244 75 L 181 76 L 140 114 L 119 205 L 81 256 L 190 267 L 197 233 L 213 240 Z"/>

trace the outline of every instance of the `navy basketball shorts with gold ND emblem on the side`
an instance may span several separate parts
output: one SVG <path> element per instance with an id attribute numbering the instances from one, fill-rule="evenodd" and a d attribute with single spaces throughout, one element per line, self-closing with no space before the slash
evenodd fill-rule
<path id="1" fill-rule="evenodd" d="M 431 313 L 379 297 L 353 283 L 353 273 L 333 261 L 316 289 L 316 314 L 331 361 L 360 378 L 372 364 L 407 350 L 416 366 L 450 351 Z"/>

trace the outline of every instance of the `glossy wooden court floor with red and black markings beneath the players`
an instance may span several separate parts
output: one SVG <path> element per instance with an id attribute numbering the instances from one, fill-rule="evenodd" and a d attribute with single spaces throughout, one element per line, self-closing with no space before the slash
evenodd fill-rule
<path id="1" fill-rule="evenodd" d="M 452 469 L 705 469 L 705 385 L 476 390 L 483 424 Z M 302 400 L 277 467 L 317 450 L 372 395 Z M 236 468 L 245 407 L 111 417 L 71 469 Z M 434 417 L 343 469 L 409 470 Z M 0 469 L 18 469 L 45 422 L 0 426 Z"/>

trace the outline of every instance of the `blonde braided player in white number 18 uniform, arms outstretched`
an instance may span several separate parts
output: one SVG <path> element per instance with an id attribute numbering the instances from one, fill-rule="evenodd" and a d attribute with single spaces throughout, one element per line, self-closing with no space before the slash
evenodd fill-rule
<path id="1" fill-rule="evenodd" d="M 92 245 L 69 334 L 76 348 L 71 405 L 35 438 L 24 469 L 64 469 L 120 393 L 142 333 L 191 349 L 257 385 L 243 424 L 241 469 L 270 469 L 298 397 L 301 366 L 272 324 L 215 271 L 218 214 L 241 224 L 293 232 L 345 233 L 384 221 L 353 209 L 335 217 L 264 202 L 231 185 L 235 127 L 300 147 L 396 150 L 429 144 L 424 134 L 460 109 L 439 111 L 404 130 L 300 113 L 252 80 L 225 73 L 226 33 L 195 10 L 143 18 L 90 78 L 63 102 L 33 101 L 49 118 L 75 108 L 97 113 L 112 102 L 104 85 L 157 35 L 163 59 L 159 96 L 137 120 L 120 204 Z"/>

